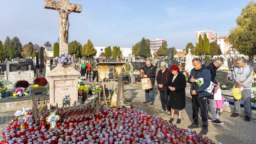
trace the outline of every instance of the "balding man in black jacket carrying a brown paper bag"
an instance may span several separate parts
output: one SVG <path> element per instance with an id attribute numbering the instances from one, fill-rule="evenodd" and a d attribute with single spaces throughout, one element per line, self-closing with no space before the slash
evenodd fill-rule
<path id="1" fill-rule="evenodd" d="M 154 84 L 156 80 L 156 67 L 152 65 L 151 61 L 148 60 L 146 62 L 146 66 L 144 66 L 141 70 L 141 72 L 145 72 L 144 78 L 150 78 L 152 88 L 149 90 L 145 90 L 145 98 L 146 101 L 143 102 L 144 104 L 149 103 L 150 105 L 153 105 L 154 103 Z"/>

